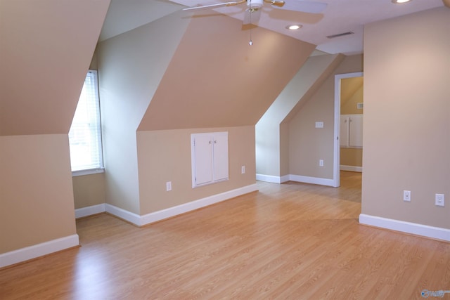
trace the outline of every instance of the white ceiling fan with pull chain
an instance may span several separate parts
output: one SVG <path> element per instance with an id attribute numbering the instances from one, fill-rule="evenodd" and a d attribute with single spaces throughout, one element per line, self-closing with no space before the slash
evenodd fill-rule
<path id="1" fill-rule="evenodd" d="M 204 6 L 193 6 L 184 8 L 183 11 L 199 11 L 204 9 L 221 8 L 224 6 L 236 6 L 243 3 L 247 3 L 243 25 L 248 25 L 259 20 L 264 3 L 271 4 L 271 6 L 277 9 L 283 9 L 285 11 L 299 11 L 302 13 L 321 13 L 327 6 L 326 3 L 306 0 L 240 0 Z"/>

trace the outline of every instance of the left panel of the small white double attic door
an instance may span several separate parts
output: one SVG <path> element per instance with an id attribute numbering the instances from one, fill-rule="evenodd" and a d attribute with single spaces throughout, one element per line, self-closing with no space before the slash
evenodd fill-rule
<path id="1" fill-rule="evenodd" d="M 212 183 L 212 136 L 210 135 L 195 135 L 194 138 L 194 180 L 195 185 L 204 185 Z"/>

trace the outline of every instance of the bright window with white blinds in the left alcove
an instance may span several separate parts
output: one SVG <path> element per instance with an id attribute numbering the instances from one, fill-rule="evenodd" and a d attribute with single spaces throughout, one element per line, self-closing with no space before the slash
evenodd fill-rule
<path id="1" fill-rule="evenodd" d="M 97 72 L 89 70 L 69 131 L 74 176 L 103 172 Z"/>

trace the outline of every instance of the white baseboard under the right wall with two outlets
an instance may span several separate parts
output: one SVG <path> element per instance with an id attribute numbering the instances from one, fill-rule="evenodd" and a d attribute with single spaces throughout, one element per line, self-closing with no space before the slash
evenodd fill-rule
<path id="1" fill-rule="evenodd" d="M 370 216 L 367 214 L 359 215 L 359 223 L 380 228 L 386 228 L 390 230 L 401 231 L 402 233 L 422 235 L 424 237 L 431 237 L 437 240 L 445 240 L 447 242 L 450 242 L 450 230 L 446 228 L 427 226 L 394 219 L 385 219 L 380 216 Z"/>

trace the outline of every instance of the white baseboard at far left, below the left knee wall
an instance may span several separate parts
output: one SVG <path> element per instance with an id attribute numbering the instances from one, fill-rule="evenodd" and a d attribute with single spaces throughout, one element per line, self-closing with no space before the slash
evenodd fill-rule
<path id="1" fill-rule="evenodd" d="M 34 244 L 30 247 L 17 249 L 11 252 L 6 252 L 0 254 L 0 268 L 11 266 L 15 263 L 21 263 L 23 261 L 29 261 L 30 259 L 36 259 L 39 256 L 44 256 L 53 252 L 76 247 L 78 245 L 79 238 L 78 235 L 75 234 L 68 235 L 67 237 L 60 237 L 49 242 Z"/>

